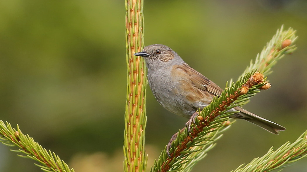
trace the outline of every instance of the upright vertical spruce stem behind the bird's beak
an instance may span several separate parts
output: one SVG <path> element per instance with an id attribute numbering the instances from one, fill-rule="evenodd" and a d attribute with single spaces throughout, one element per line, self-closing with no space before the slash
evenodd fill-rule
<path id="1" fill-rule="evenodd" d="M 124 171 L 146 168 L 146 76 L 142 57 L 134 56 L 144 47 L 143 1 L 126 0 L 127 101 L 124 131 Z"/>

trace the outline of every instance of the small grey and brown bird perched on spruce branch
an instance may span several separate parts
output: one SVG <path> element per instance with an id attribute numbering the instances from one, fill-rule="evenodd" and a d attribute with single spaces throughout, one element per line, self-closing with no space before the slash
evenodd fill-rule
<path id="1" fill-rule="evenodd" d="M 222 88 L 190 67 L 166 45 L 149 45 L 134 55 L 144 58 L 148 69 L 148 84 L 157 101 L 173 114 L 188 118 L 187 125 L 192 121 L 195 122 L 192 118 L 195 119 L 198 109 L 208 106 L 214 96 L 219 97 L 223 92 Z M 244 119 L 270 133 L 279 134 L 279 131 L 286 130 L 285 127 L 239 106 L 231 110 L 236 113 L 230 118 Z"/>

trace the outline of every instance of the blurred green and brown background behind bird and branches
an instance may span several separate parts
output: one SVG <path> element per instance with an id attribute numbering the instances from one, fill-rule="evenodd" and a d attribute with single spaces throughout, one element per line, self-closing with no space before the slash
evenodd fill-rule
<path id="1" fill-rule="evenodd" d="M 124 4 L 0 0 L 0 119 L 19 124 L 77 172 L 123 171 Z M 273 135 L 237 121 L 193 171 L 233 170 L 306 130 L 306 9 L 304 0 L 145 0 L 145 45 L 168 45 L 222 88 L 282 24 L 299 36 L 297 51 L 274 66 L 272 88 L 245 106 L 287 130 Z M 164 110 L 147 91 L 150 167 L 186 119 Z M 41 171 L 33 163 L 0 145 L 0 171 Z M 284 171 L 306 171 L 306 163 Z"/>

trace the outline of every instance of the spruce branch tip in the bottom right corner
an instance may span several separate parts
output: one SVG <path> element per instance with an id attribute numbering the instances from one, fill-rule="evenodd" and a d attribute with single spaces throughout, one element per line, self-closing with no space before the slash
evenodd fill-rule
<path id="1" fill-rule="evenodd" d="M 299 159 L 304 158 L 307 155 L 307 131 L 297 138 L 292 144 L 288 141 L 277 150 L 273 150 L 273 147 L 263 155 L 253 159 L 246 166 L 240 165 L 237 169 L 231 172 L 268 172 L 275 169 L 285 167 L 287 163 L 293 163 Z"/>

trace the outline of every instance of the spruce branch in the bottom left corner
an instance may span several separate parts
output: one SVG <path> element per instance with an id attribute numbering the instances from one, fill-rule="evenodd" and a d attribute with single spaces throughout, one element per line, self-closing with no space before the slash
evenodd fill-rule
<path id="1" fill-rule="evenodd" d="M 25 154 L 18 155 L 20 157 L 31 158 L 38 161 L 41 165 L 35 165 L 40 167 L 43 171 L 74 172 L 74 170 L 69 169 L 68 165 L 54 152 L 44 149 L 28 134 L 24 135 L 18 125 L 17 129 L 14 129 L 8 122 L 4 123 L 0 120 L 0 135 L 0 142 L 7 146 L 17 146 L 19 148 L 18 150 L 11 149 L 11 151 Z"/>

